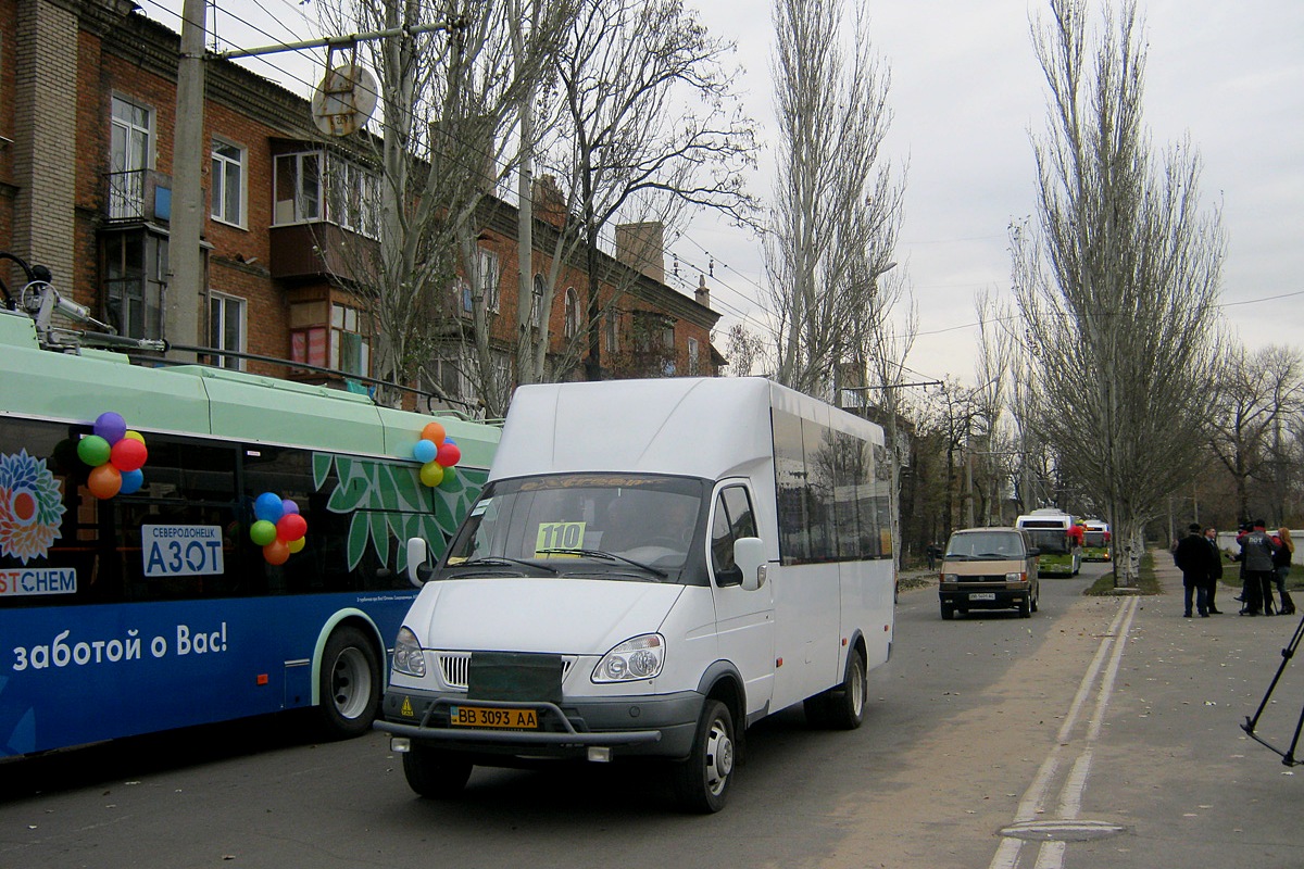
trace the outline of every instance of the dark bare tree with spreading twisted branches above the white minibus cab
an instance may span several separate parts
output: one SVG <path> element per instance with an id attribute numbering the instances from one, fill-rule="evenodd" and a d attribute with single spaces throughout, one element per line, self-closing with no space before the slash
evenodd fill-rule
<path id="1" fill-rule="evenodd" d="M 544 298 L 556 296 L 562 263 L 583 263 L 588 279 L 584 327 L 558 370 L 583 356 L 585 375 L 602 377 L 600 323 L 627 289 L 622 280 L 634 274 L 622 278 L 601 267 L 604 229 L 619 219 L 672 232 L 687 207 L 738 219 L 750 214 L 742 171 L 754 162 L 755 141 L 724 63 L 730 48 L 711 38 L 681 0 L 579 0 L 552 68 L 557 142 L 541 156 L 562 189 L 567 215 L 554 240 Z M 659 261 L 660 244 L 649 244 L 655 250 L 648 257 Z M 630 264 L 639 271 L 655 263 Z M 541 349 L 533 360 L 523 382 L 546 377 Z"/>

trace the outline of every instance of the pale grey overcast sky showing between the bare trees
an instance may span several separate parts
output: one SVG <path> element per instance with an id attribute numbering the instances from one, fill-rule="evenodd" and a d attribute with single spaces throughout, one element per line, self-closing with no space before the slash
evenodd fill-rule
<path id="1" fill-rule="evenodd" d="M 181 0 L 138 0 L 145 14 L 180 30 Z M 772 129 L 769 0 L 687 0 L 716 35 L 738 46 L 738 90 L 760 128 Z M 908 360 L 927 378 L 973 379 L 974 298 L 1009 300 L 1005 228 L 1033 211 L 1029 130 L 1045 130 L 1046 96 L 1029 16 L 1042 0 L 871 0 L 871 42 L 892 73 L 895 115 L 885 151 L 909 160 L 906 216 L 893 254 L 919 309 Z M 1097 4 L 1097 9 L 1099 4 Z M 1202 201 L 1221 206 L 1228 235 L 1222 304 L 1249 348 L 1301 345 L 1304 331 L 1304 3 L 1300 0 L 1141 0 L 1149 35 L 1145 113 L 1157 149 L 1184 134 L 1204 160 Z M 218 0 L 227 47 L 316 35 L 312 8 L 295 0 Z M 239 20 L 237 20 L 239 18 Z M 263 33 L 250 30 L 257 25 Z M 213 25 L 210 18 L 210 26 Z M 319 76 L 299 64 L 300 78 Z M 289 55 L 276 66 L 295 69 Z M 267 64 L 248 64 L 278 78 Z M 317 72 L 310 72 L 316 69 Z M 296 93 L 308 87 L 282 81 Z M 769 194 L 772 154 L 752 190 Z M 683 287 L 708 280 L 722 327 L 758 315 L 764 297 L 760 245 L 709 216 L 670 245 Z M 668 263 L 669 266 L 669 263 Z M 722 330 L 717 343 L 722 344 Z M 724 348 L 721 348 L 724 349 Z"/>

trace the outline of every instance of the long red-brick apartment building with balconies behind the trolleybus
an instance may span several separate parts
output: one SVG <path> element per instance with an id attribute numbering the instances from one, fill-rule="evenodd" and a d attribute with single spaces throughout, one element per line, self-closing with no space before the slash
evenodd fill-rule
<path id="1" fill-rule="evenodd" d="M 200 352 L 201 361 L 339 386 L 346 375 L 373 375 L 365 311 L 333 279 L 327 245 L 317 242 L 377 232 L 357 210 L 331 214 L 338 199 L 322 194 L 323 178 L 343 178 L 360 195 L 376 180 L 346 149 L 323 142 L 308 100 L 230 61 L 210 60 L 205 70 L 211 159 L 203 169 L 205 297 L 194 300 L 200 328 L 193 336 L 167 334 L 164 302 L 180 301 L 167 297 L 180 39 L 134 9 L 128 0 L 0 0 L 0 251 L 48 266 L 59 292 L 120 334 L 216 350 Z M 536 190 L 546 202 L 550 190 L 541 184 Z M 540 214 L 533 264 L 545 272 L 544 250 L 565 215 Z M 490 340 L 510 369 L 516 212 L 489 199 L 480 219 L 481 255 L 494 264 L 499 300 Z M 690 297 L 664 283 L 657 229 L 622 228 L 623 251 L 601 257 L 602 280 L 610 281 L 600 293 L 610 307 L 600 330 L 605 373 L 716 374 L 722 360 L 711 328 L 719 314 L 704 285 Z M 635 262 L 639 268 L 626 264 Z M 550 352 L 587 324 L 583 262 L 565 263 L 561 274 Z M 13 294 L 23 276 L 0 261 L 0 279 Z M 618 301 L 606 305 L 617 283 Z M 459 281 L 449 288 L 452 332 L 467 328 L 464 294 Z M 655 371 L 649 344 L 660 360 Z M 458 399 L 454 406 L 473 408 L 454 345 L 430 362 Z M 580 365 L 565 377 L 582 375 Z"/>

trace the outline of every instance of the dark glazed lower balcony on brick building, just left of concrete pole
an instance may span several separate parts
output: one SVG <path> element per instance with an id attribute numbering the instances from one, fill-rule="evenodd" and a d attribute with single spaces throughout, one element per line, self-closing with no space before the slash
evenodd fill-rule
<path id="1" fill-rule="evenodd" d="M 145 229 L 100 240 L 104 261 L 104 315 L 119 335 L 163 337 L 163 284 L 167 237 Z"/>

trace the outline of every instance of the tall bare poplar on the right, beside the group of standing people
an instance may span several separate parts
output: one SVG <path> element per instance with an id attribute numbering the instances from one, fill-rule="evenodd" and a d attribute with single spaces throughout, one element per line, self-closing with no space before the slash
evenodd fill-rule
<path id="1" fill-rule="evenodd" d="M 1198 211 L 1191 145 L 1151 155 L 1136 3 L 1116 20 L 1106 5 L 1090 51 L 1086 13 L 1050 0 L 1033 26 L 1050 129 L 1034 137 L 1039 227 L 1013 233 L 1015 288 L 1031 423 L 1106 506 L 1115 582 L 1132 585 L 1145 522 L 1208 442 L 1224 241 L 1217 212 Z"/>

